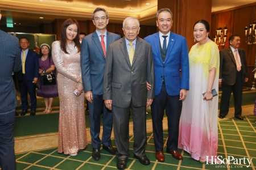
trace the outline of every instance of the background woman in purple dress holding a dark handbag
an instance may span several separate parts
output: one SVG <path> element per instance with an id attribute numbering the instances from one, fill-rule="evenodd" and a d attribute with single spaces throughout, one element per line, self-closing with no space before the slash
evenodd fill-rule
<path id="1" fill-rule="evenodd" d="M 42 44 L 40 46 L 41 57 L 39 58 L 39 74 L 55 74 L 55 65 L 53 63 L 51 57 L 50 46 L 48 44 Z M 44 98 L 44 104 L 46 105 L 46 109 L 44 109 L 44 113 L 51 113 L 52 111 L 52 103 L 53 97 L 57 97 L 58 90 L 57 84 L 55 85 L 41 85 L 41 78 L 39 76 L 38 79 L 38 96 Z"/>

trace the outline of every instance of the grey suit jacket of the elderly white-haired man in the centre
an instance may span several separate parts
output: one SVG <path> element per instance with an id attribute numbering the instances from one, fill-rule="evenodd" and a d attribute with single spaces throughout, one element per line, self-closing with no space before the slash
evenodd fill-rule
<path id="1" fill-rule="evenodd" d="M 104 75 L 104 100 L 112 100 L 116 107 L 143 107 L 147 98 L 155 98 L 154 62 L 151 45 L 137 37 L 132 66 L 125 37 L 109 45 Z M 146 81 L 151 84 L 147 91 Z"/>

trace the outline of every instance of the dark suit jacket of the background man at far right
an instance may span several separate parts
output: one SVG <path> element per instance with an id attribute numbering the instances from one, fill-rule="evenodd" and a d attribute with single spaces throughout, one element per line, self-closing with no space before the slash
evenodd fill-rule
<path id="1" fill-rule="evenodd" d="M 240 60 L 242 63 L 242 80 L 245 82 L 245 78 L 248 77 L 248 70 L 246 64 L 245 50 L 238 49 Z M 226 48 L 220 50 L 220 76 L 222 84 L 232 86 L 236 83 L 237 79 L 237 64 L 232 49 Z"/>

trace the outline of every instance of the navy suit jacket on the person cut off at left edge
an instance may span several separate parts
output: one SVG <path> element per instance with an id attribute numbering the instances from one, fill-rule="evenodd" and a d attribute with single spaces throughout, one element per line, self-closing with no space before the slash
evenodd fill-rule
<path id="1" fill-rule="evenodd" d="M 21 69 L 21 50 L 17 37 L 0 30 L 0 113 L 17 106 L 12 73 Z"/>

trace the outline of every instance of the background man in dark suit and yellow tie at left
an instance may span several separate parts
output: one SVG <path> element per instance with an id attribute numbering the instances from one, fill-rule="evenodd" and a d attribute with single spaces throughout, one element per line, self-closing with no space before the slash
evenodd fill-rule
<path id="1" fill-rule="evenodd" d="M 28 101 L 27 92 L 30 94 L 31 101 L 31 113 L 30 116 L 34 116 L 36 113 L 36 83 L 39 76 L 39 61 L 38 54 L 30 49 L 30 42 L 26 37 L 19 40 L 19 45 L 22 48 L 21 59 L 22 69 L 18 72 L 20 97 L 22 99 L 22 112 L 21 116 L 27 113 Z"/>

